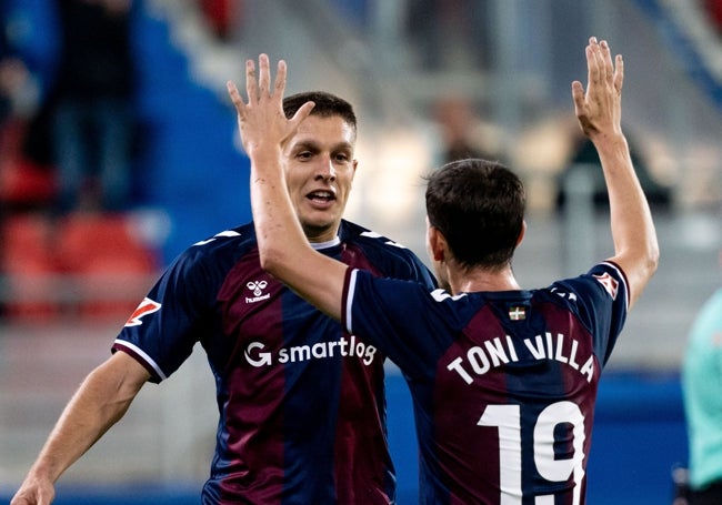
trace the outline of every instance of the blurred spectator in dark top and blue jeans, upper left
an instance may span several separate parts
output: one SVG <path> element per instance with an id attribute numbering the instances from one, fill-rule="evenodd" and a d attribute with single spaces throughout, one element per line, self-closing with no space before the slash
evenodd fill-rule
<path id="1" fill-rule="evenodd" d="M 57 0 L 61 55 L 52 95 L 60 213 L 130 204 L 134 130 L 131 0 Z"/>

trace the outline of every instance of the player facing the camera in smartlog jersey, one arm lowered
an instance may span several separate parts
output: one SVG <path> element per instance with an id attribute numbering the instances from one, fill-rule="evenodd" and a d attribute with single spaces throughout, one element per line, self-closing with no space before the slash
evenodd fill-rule
<path id="1" fill-rule="evenodd" d="M 278 112 L 291 118 L 308 101 L 315 109 L 283 143 L 304 243 L 377 275 L 433 287 L 411 251 L 342 220 L 358 165 L 357 118 L 351 104 L 325 92 L 289 97 Z M 112 356 L 69 403 L 12 505 L 49 504 L 62 472 L 198 342 L 220 413 L 203 504 L 393 503 L 383 353 L 263 272 L 249 223 L 194 244 L 169 266 Z"/>

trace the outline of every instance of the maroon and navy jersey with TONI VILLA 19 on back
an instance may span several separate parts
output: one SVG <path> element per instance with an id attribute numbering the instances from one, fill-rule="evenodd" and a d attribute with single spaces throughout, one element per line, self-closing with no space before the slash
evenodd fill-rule
<path id="1" fill-rule="evenodd" d="M 420 503 L 583 504 L 596 386 L 628 300 L 609 262 L 542 290 L 455 296 L 349 269 L 344 327 L 411 392 Z"/>

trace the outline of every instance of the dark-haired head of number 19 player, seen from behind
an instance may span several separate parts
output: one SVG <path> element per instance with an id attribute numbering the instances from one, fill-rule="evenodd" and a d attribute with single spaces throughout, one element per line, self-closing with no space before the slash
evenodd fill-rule
<path id="1" fill-rule="evenodd" d="M 492 161 L 453 161 L 428 178 L 429 225 L 465 269 L 511 264 L 523 233 L 525 200 L 521 180 Z"/>

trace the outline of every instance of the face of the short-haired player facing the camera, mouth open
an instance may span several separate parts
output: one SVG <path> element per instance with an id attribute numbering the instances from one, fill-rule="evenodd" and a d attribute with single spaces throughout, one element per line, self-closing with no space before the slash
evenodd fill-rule
<path id="1" fill-rule="evenodd" d="M 305 118 L 283 145 L 285 181 L 295 214 L 311 242 L 335 238 L 357 161 L 355 132 L 340 117 Z"/>

